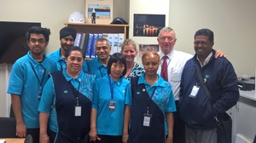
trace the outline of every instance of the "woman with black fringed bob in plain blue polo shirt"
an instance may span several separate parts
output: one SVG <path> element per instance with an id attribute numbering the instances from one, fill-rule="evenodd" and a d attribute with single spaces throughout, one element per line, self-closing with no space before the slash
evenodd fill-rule
<path id="1" fill-rule="evenodd" d="M 126 60 L 115 53 L 108 60 L 108 75 L 96 79 L 90 120 L 90 140 L 120 143 L 123 134 L 126 90 L 130 82 L 123 78 Z"/>

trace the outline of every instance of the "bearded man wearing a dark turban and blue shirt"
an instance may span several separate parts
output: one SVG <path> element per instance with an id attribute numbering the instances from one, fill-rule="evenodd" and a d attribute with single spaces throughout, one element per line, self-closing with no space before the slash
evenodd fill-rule
<path id="1" fill-rule="evenodd" d="M 67 53 L 67 49 L 73 46 L 76 36 L 77 31 L 73 27 L 66 26 L 62 28 L 60 31 L 61 48 L 48 54 L 49 58 L 57 61 L 58 71 L 66 69 L 65 54 Z M 84 62 L 82 70 L 88 72 L 86 62 Z"/>

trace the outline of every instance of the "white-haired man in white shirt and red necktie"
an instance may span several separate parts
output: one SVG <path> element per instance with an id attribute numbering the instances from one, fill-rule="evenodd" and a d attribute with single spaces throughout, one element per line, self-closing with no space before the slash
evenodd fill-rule
<path id="1" fill-rule="evenodd" d="M 187 60 L 193 57 L 181 51 L 174 50 L 173 47 L 177 41 L 175 31 L 170 27 L 164 27 L 160 30 L 157 41 L 160 45 L 160 66 L 158 74 L 166 81 L 172 83 L 172 92 L 174 94 L 176 109 L 179 100 L 180 80 L 183 67 Z M 216 52 L 215 58 L 225 56 L 221 51 Z M 173 143 L 185 143 L 184 124 L 181 122 L 177 112 L 173 113 Z"/>

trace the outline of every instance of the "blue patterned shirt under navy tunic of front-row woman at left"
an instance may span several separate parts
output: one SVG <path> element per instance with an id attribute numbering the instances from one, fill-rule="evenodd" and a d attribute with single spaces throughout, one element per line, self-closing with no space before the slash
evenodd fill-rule
<path id="1" fill-rule="evenodd" d="M 84 96 L 89 100 L 92 100 L 95 75 L 80 72 L 79 77 L 73 78 L 67 74 L 66 70 L 63 70 L 62 74 L 67 79 L 67 82 L 71 82 L 75 89 L 79 89 L 79 93 L 84 94 Z M 58 126 L 55 111 L 55 85 L 52 77 L 49 77 L 49 80 L 44 85 L 42 99 L 38 106 L 38 112 L 50 113 L 49 129 L 57 132 Z"/>

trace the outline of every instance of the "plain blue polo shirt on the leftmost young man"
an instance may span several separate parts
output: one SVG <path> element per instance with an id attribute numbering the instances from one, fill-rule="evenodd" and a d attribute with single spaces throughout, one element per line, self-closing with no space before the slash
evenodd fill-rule
<path id="1" fill-rule="evenodd" d="M 49 79 L 50 72 L 56 72 L 56 62 L 44 55 L 38 62 L 32 58 L 30 51 L 15 61 L 9 77 L 8 94 L 20 96 L 21 112 L 27 129 L 39 128 L 38 91 Z M 39 80 L 39 81 L 38 81 Z M 41 82 L 42 81 L 42 82 Z"/>

